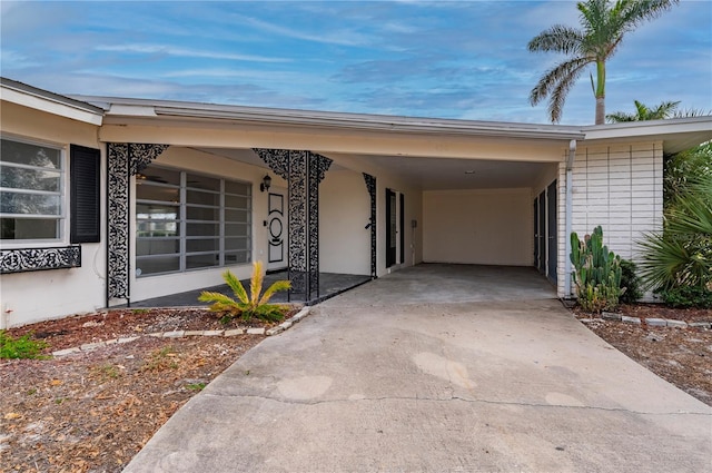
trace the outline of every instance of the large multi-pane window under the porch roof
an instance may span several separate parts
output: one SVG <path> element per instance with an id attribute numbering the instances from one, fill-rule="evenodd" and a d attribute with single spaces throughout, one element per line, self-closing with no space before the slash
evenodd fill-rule
<path id="1" fill-rule="evenodd" d="M 138 276 L 250 262 L 249 183 L 150 166 L 136 193 Z"/>

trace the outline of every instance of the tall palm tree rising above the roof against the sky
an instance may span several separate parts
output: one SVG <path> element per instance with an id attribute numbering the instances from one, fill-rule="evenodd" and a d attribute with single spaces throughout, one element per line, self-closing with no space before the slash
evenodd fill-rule
<path id="1" fill-rule="evenodd" d="M 544 72 L 530 92 L 535 106 L 550 97 L 548 112 L 553 124 L 561 121 L 568 90 L 586 66 L 596 65 L 596 79 L 591 87 L 596 99 L 595 124 L 605 119 L 605 62 L 617 51 L 623 36 L 644 21 L 659 17 L 680 0 L 586 0 L 576 3 L 581 28 L 555 24 L 528 43 L 532 52 L 563 52 L 568 58 Z"/>

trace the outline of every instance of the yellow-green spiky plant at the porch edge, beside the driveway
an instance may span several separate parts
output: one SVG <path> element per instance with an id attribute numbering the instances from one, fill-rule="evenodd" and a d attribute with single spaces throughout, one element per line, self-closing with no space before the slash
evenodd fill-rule
<path id="1" fill-rule="evenodd" d="M 265 279 L 261 262 L 255 262 L 253 265 L 249 295 L 243 283 L 229 270 L 222 274 L 222 279 L 230 287 L 237 300 L 222 293 L 204 290 L 198 300 L 212 303 L 210 305 L 211 312 L 220 313 L 224 317 L 240 316 L 244 321 L 254 317 L 267 322 L 279 322 L 284 318 L 287 309 L 278 304 L 268 303 L 276 293 L 289 289 L 291 283 L 286 279 L 277 280 L 261 294 Z"/>

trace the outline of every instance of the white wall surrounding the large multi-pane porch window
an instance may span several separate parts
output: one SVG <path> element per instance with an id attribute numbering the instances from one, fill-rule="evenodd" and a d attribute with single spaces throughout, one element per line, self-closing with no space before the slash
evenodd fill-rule
<path id="1" fill-rule="evenodd" d="M 170 147 L 155 161 L 157 166 L 170 167 L 180 170 L 194 170 L 196 173 L 224 177 L 227 179 L 253 183 L 253 259 L 267 263 L 267 228 L 263 220 L 267 218 L 267 193 L 260 193 L 259 183 L 265 176 L 265 168 L 247 165 L 234 159 L 224 158 L 190 148 Z M 273 186 L 286 187 L 286 183 L 274 173 Z M 136 187 L 132 181 L 134 188 Z M 131 193 L 131 221 L 136 215 L 136 193 Z M 136 240 L 136 226 L 131 228 L 131 242 Z M 131 244 L 131 262 L 136 260 L 136 245 Z M 174 273 L 156 276 L 137 277 L 131 274 L 131 300 L 144 300 L 160 297 L 200 287 L 222 284 L 222 273 L 230 269 L 238 278 L 249 278 L 253 266 L 249 264 L 197 269 L 185 273 Z M 117 303 L 122 304 L 123 300 Z"/>

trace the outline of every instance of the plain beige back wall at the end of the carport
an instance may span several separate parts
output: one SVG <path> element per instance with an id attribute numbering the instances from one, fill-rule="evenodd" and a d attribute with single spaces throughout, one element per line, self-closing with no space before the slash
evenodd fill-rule
<path id="1" fill-rule="evenodd" d="M 532 265 L 531 190 L 432 190 L 423 194 L 427 263 Z"/>

